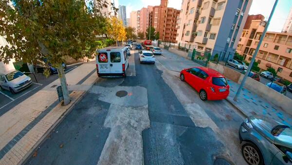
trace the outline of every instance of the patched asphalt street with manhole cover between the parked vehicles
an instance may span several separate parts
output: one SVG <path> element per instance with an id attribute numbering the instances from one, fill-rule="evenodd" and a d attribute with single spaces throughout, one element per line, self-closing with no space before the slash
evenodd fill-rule
<path id="1" fill-rule="evenodd" d="M 131 57 L 136 76 L 98 79 L 26 164 L 245 165 L 233 106 Z"/>

